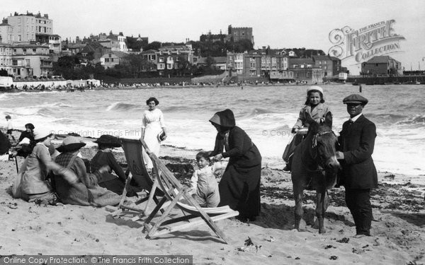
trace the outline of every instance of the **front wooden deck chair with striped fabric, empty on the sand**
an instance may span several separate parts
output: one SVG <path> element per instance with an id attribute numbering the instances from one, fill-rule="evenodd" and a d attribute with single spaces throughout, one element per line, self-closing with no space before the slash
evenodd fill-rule
<path id="1" fill-rule="evenodd" d="M 149 158 L 151 158 L 154 165 L 154 172 L 157 176 L 152 186 L 151 194 L 154 194 L 158 188 L 162 189 L 162 192 L 164 192 L 162 200 L 159 201 L 154 211 L 152 211 L 145 220 L 144 226 L 148 232 L 147 238 L 207 224 L 215 234 L 227 244 L 225 234 L 217 227 L 215 221 L 238 216 L 239 212 L 232 210 L 229 206 L 215 208 L 200 207 L 191 194 L 188 193 L 189 188 L 183 187 L 179 180 L 174 177 L 173 173 L 169 171 L 159 158 L 157 158 L 157 155 L 149 151 L 149 148 L 147 148 L 143 140 L 142 146 L 145 147 L 146 153 L 149 155 Z M 186 199 L 188 204 L 180 201 L 180 199 L 183 198 Z M 149 201 L 150 200 L 149 198 Z M 159 209 L 161 209 L 166 202 L 171 203 L 166 206 L 162 215 L 156 216 Z M 170 213 L 174 206 L 179 207 L 183 213 L 188 214 L 178 218 L 171 218 Z"/>

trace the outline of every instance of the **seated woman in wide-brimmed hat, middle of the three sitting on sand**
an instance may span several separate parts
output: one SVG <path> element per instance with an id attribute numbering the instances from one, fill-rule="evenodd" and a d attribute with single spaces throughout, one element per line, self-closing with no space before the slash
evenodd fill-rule
<path id="1" fill-rule="evenodd" d="M 93 174 L 86 172 L 86 165 L 81 158 L 79 150 L 85 146 L 75 136 L 67 136 L 62 141 L 62 146 L 57 148 L 61 154 L 57 155 L 55 162 L 63 167 L 72 170 L 78 177 L 78 182 L 74 186 L 62 178 L 55 175 L 55 190 L 63 204 L 76 204 L 81 206 L 115 206 L 120 202 L 120 196 L 98 185 L 103 172 L 108 171 L 108 166 L 101 167 Z"/>

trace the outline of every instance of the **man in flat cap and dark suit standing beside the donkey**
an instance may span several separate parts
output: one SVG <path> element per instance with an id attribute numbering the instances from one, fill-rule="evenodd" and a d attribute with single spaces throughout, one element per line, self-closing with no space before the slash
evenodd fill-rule
<path id="1" fill-rule="evenodd" d="M 339 151 L 336 158 L 341 160 L 341 184 L 346 189 L 346 204 L 356 223 L 356 235 L 370 236 L 372 206 L 370 190 L 378 187 L 378 175 L 373 164 L 376 127 L 361 113 L 368 103 L 361 95 L 353 94 L 344 98 L 350 119 L 342 125 L 339 133 Z"/>

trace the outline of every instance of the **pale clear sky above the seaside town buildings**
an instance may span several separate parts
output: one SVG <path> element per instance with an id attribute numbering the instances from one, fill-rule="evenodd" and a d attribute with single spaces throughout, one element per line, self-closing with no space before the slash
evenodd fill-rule
<path id="1" fill-rule="evenodd" d="M 149 37 L 149 42 L 199 40 L 201 34 L 227 33 L 251 27 L 254 48 L 333 46 L 329 33 L 349 26 L 358 30 L 382 20 L 395 20 L 395 33 L 406 40 L 390 56 L 406 70 L 425 70 L 425 1 L 423 0 L 1 0 L 0 16 L 47 13 L 53 31 L 66 38 L 98 33 Z M 424 61 L 423 61 L 424 60 Z M 343 61 L 352 73 L 360 69 Z"/>

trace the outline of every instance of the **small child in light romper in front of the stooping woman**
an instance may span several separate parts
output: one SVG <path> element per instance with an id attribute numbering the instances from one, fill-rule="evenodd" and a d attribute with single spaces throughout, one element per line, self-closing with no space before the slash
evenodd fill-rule
<path id="1" fill-rule="evenodd" d="M 199 152 L 196 155 L 196 163 L 199 167 L 191 178 L 192 196 L 201 207 L 217 207 L 220 203 L 217 180 L 210 166 L 208 152 Z"/>

